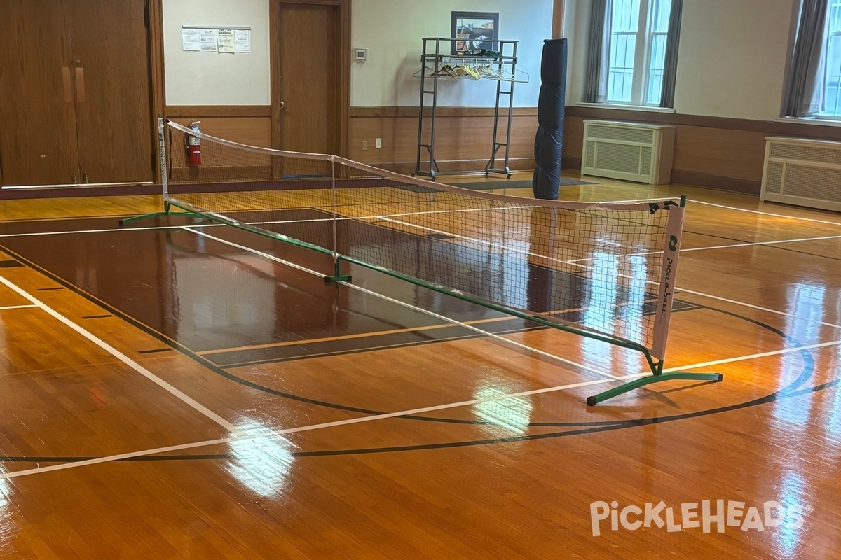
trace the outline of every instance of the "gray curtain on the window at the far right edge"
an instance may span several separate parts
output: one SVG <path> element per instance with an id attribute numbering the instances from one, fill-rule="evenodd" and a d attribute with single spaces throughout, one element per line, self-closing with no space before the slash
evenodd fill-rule
<path id="1" fill-rule="evenodd" d="M 783 95 L 786 117 L 807 117 L 822 108 L 828 4 L 828 0 L 801 0 Z"/>

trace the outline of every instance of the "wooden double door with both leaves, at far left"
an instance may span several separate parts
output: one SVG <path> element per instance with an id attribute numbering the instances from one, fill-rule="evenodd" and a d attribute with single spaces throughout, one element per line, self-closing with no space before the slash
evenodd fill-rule
<path id="1" fill-rule="evenodd" d="M 154 180 L 147 0 L 0 1 L 0 183 Z"/>

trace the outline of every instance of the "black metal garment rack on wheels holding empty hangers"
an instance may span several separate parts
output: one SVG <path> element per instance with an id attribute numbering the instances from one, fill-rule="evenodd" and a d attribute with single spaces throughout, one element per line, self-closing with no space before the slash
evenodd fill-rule
<path id="1" fill-rule="evenodd" d="M 452 75 L 447 75 L 447 67 L 452 70 L 453 65 L 461 65 L 464 61 L 471 62 L 476 65 L 485 65 L 493 69 L 489 76 L 481 76 L 482 80 L 495 80 L 496 84 L 496 104 L 494 108 L 494 138 L 491 146 L 490 159 L 488 164 L 484 166 L 484 174 L 501 173 L 503 175 L 511 176 L 509 167 L 509 153 L 511 143 L 511 119 L 514 113 L 514 84 L 518 80 L 516 77 L 517 65 L 517 43 L 519 41 L 484 41 L 495 45 L 495 51 L 498 55 L 476 55 L 463 53 L 453 55 L 453 47 L 456 41 L 463 39 L 445 39 L 443 37 L 426 37 L 423 39 L 423 54 L 421 55 L 421 103 L 418 111 L 418 149 L 417 161 L 415 163 L 415 172 L 412 176 L 421 175 L 430 177 L 435 181 L 437 175 L 463 175 L 469 171 L 442 171 L 438 167 L 438 162 L 435 158 L 435 139 L 436 139 L 436 118 L 438 113 L 438 83 L 443 79 L 450 79 Z M 444 52 L 442 52 L 442 46 Z M 444 72 L 444 75 L 442 75 Z M 476 79 L 472 76 L 452 76 L 463 77 L 465 79 Z M 431 81 L 431 89 L 430 87 Z M 505 86 L 505 84 L 508 84 Z M 508 102 L 505 103 L 508 107 L 508 127 L 505 129 L 505 141 L 500 142 L 500 100 L 505 97 Z M 430 117 L 431 124 L 429 130 L 429 140 L 424 140 L 424 118 L 427 109 L 431 109 Z M 497 155 L 500 149 L 505 149 L 505 163 L 501 167 L 497 165 Z M 426 154 L 429 154 L 429 159 L 424 158 L 424 149 Z M 501 158 L 500 158 L 501 159 Z M 477 170 L 482 171 L 482 170 Z"/>

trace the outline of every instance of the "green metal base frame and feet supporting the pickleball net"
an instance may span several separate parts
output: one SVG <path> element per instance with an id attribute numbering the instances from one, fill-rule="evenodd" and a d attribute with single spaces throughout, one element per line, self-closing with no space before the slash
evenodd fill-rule
<path id="1" fill-rule="evenodd" d="M 167 152 L 166 152 L 166 142 L 164 141 L 164 127 L 165 126 L 166 126 L 166 121 L 162 118 L 159 118 L 158 137 L 159 137 L 159 141 L 160 141 L 160 144 L 161 144 L 161 154 L 160 154 L 160 158 L 161 158 L 161 161 L 160 161 L 160 163 L 161 163 L 161 184 L 163 186 L 163 191 L 164 191 L 163 212 L 152 212 L 152 213 L 144 214 L 144 215 L 140 215 L 140 216 L 124 218 L 123 220 L 119 221 L 119 225 L 121 227 L 126 223 L 135 222 L 135 221 L 138 221 L 138 220 L 144 220 L 144 219 L 148 219 L 148 218 L 152 218 L 152 217 L 177 216 L 177 217 L 191 217 L 191 218 L 210 220 L 212 222 L 217 222 L 217 223 L 220 223 L 220 224 L 224 224 L 226 226 L 230 226 L 231 228 L 241 229 L 241 230 L 249 232 L 249 233 L 256 233 L 257 235 L 260 235 L 260 236 L 265 237 L 265 238 L 270 238 L 274 241 L 287 243 L 287 244 L 290 244 L 290 245 L 294 245 L 296 247 L 300 247 L 300 248 L 303 248 L 303 249 L 309 249 L 309 250 L 315 251 L 315 252 L 320 253 L 320 254 L 325 254 L 325 255 L 331 256 L 331 258 L 334 261 L 333 274 L 329 275 L 329 276 L 325 275 L 325 277 L 324 277 L 325 282 L 331 282 L 331 283 L 337 283 L 338 284 L 338 283 L 341 283 L 341 282 L 352 281 L 352 277 L 350 275 L 342 274 L 341 263 L 345 262 L 345 263 L 348 263 L 348 264 L 355 264 L 357 266 L 361 266 L 361 267 L 366 268 L 368 270 L 374 270 L 374 271 L 379 272 L 383 275 L 389 275 L 389 276 L 391 276 L 393 278 L 396 278 L 398 280 L 403 280 L 403 281 L 408 282 L 410 284 L 420 286 L 422 288 L 425 288 L 426 290 L 433 290 L 433 291 L 445 294 L 447 296 L 452 296 L 452 297 L 458 298 L 458 299 L 463 300 L 463 301 L 468 301 L 468 302 L 473 303 L 473 304 L 478 305 L 478 306 L 483 306 L 483 307 L 485 307 L 487 309 L 490 309 L 492 311 L 498 311 L 500 313 L 505 313 L 506 315 L 509 315 L 511 317 L 517 317 L 517 318 L 522 319 L 524 321 L 537 323 L 538 325 L 541 325 L 542 327 L 551 327 L 551 328 L 555 328 L 555 329 L 558 329 L 558 330 L 563 331 L 563 332 L 570 332 L 570 333 L 573 333 L 573 334 L 576 334 L 576 335 L 579 335 L 579 336 L 582 336 L 582 337 L 585 337 L 585 338 L 591 338 L 593 340 L 597 340 L 597 341 L 600 341 L 602 343 L 608 343 L 608 344 L 612 344 L 614 346 L 618 346 L 618 347 L 621 347 L 621 348 L 627 348 L 629 350 L 637 351 L 637 352 L 643 354 L 643 356 L 645 357 L 646 362 L 648 364 L 648 368 L 651 369 L 651 373 L 652 373 L 651 375 L 646 375 L 644 377 L 639 377 L 637 379 L 631 379 L 631 380 L 627 381 L 626 383 L 623 383 L 621 385 L 613 387 L 609 390 L 602 391 L 598 395 L 593 395 L 593 396 L 587 397 L 586 402 L 587 402 L 588 406 L 595 406 L 595 405 L 597 405 L 601 402 L 604 402 L 606 400 L 613 399 L 616 396 L 624 395 L 625 393 L 627 393 L 629 391 L 639 389 L 639 388 L 644 387 L 646 385 L 663 383 L 665 381 L 691 380 L 691 381 L 696 381 L 696 382 L 720 382 L 723 379 L 723 374 L 720 374 L 720 373 L 665 372 L 664 371 L 664 367 L 665 367 L 664 359 L 655 358 L 653 356 L 653 354 L 651 353 L 651 351 L 648 348 L 646 348 L 645 346 L 643 346 L 642 344 L 633 343 L 632 341 L 623 340 L 621 338 L 612 338 L 612 337 L 610 337 L 608 335 L 605 335 L 605 334 L 600 334 L 600 333 L 597 333 L 597 332 L 590 332 L 590 331 L 587 331 L 585 329 L 579 329 L 579 328 L 572 327 L 572 326 L 569 326 L 569 325 L 565 325 L 565 324 L 562 324 L 562 323 L 549 321 L 549 320 L 544 319 L 542 317 L 537 317 L 537 316 L 532 315 L 530 313 L 527 313 L 527 312 L 524 312 L 524 311 L 521 311 L 521 310 L 518 310 L 518 309 L 514 309 L 510 306 L 501 305 L 501 304 L 495 303 L 493 301 L 486 301 L 486 300 L 484 300 L 482 298 L 479 298 L 479 297 L 464 294 L 464 293 L 462 293 L 461 291 L 458 291 L 458 290 L 451 290 L 451 289 L 448 289 L 447 287 L 444 287 L 444 286 L 441 286 L 441 285 L 431 284 L 430 282 L 415 278 L 414 276 L 401 274 L 397 271 L 389 270 L 389 269 L 384 268 L 382 266 L 378 266 L 376 264 L 371 264 L 371 263 L 365 262 L 361 259 L 356 259 L 356 258 L 348 256 L 348 255 L 339 254 L 335 250 L 325 249 L 325 248 L 320 247 L 319 245 L 315 245 L 313 243 L 306 243 L 304 241 L 300 241 L 299 239 L 289 238 L 288 236 L 284 236 L 284 235 L 281 235 L 279 233 L 272 233 L 272 232 L 269 232 L 269 231 L 267 231 L 265 229 L 262 229 L 262 228 L 254 228 L 254 227 L 251 227 L 250 225 L 248 225 L 246 223 L 237 222 L 237 221 L 232 220 L 230 218 L 220 216 L 219 214 L 216 214 L 214 212 L 203 211 L 200 208 L 193 207 L 192 205 L 189 205 L 188 203 L 185 203 L 185 202 L 182 202 L 182 201 L 174 201 L 174 200 L 169 198 L 168 185 L 167 185 Z M 213 137 L 208 137 L 207 135 L 203 135 L 203 138 L 211 138 L 212 139 Z M 333 176 L 334 176 L 334 179 L 335 179 L 335 176 L 336 176 L 335 175 L 335 165 L 336 165 L 335 158 L 336 158 L 336 156 L 325 155 L 325 158 L 334 158 L 331 161 L 333 162 L 333 169 L 334 169 Z M 387 173 L 387 172 L 383 170 L 383 173 Z M 524 200 L 528 200 L 528 199 L 524 199 Z M 685 206 L 686 206 L 686 197 L 685 196 L 680 197 L 680 203 L 677 206 L 680 207 L 681 209 L 685 208 Z M 173 208 L 177 208 L 179 212 L 173 212 L 172 211 Z M 334 216 L 335 216 L 335 214 L 334 214 Z M 335 241 L 335 236 L 336 236 L 336 222 L 335 221 L 333 222 L 333 235 L 334 235 L 334 241 Z M 675 258 L 676 258 L 677 254 L 680 253 L 680 242 L 677 238 L 674 238 L 673 243 L 669 243 L 669 249 L 671 249 L 675 252 Z M 675 270 L 676 270 L 676 265 L 675 265 Z M 670 311 L 671 311 L 671 309 L 669 308 L 669 313 L 670 313 Z"/>

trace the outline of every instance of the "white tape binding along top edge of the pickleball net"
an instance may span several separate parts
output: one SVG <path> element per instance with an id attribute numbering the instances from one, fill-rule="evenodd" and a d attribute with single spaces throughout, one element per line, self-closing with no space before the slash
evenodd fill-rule
<path id="1" fill-rule="evenodd" d="M 408 175 L 401 175 L 399 173 L 394 173 L 393 171 L 383 170 L 378 167 L 373 167 L 373 165 L 365 165 L 361 164 L 358 161 L 347 160 L 338 155 L 330 155 L 330 154 L 308 154 L 305 152 L 289 152 L 283 149 L 271 149 L 271 148 L 259 148 L 257 146 L 250 146 L 248 144 L 239 144 L 238 142 L 231 142 L 230 140 L 220 139 L 215 136 L 210 136 L 209 134 L 205 133 L 197 133 L 192 128 L 187 128 L 182 126 L 178 123 L 173 123 L 172 121 L 167 121 L 167 125 L 176 130 L 180 130 L 182 133 L 190 134 L 192 136 L 196 136 L 200 139 L 207 139 L 211 142 L 216 144 L 222 144 L 228 146 L 230 148 L 241 149 L 246 152 L 252 152 L 254 154 L 264 154 L 264 155 L 272 155 L 275 157 L 283 157 L 283 158 L 299 158 L 301 160 L 320 160 L 320 161 L 332 161 L 337 164 L 347 165 L 348 167 L 353 167 L 357 170 L 362 170 L 370 173 L 373 176 L 384 177 L 386 179 L 390 179 L 392 181 L 397 181 L 404 185 L 415 185 L 415 186 L 422 186 L 427 189 L 431 189 L 432 191 L 442 191 L 442 192 L 450 192 L 455 195 L 460 196 L 469 196 L 472 198 L 482 198 L 484 200 L 490 201 L 500 201 L 500 202 L 508 202 L 511 204 L 529 204 L 532 206 L 539 206 L 539 207 L 546 207 L 546 208 L 561 208 L 561 209 L 569 209 L 569 210 L 609 210 L 612 212 L 616 211 L 627 211 L 627 212 L 650 212 L 652 206 L 663 208 L 665 206 L 664 202 L 637 202 L 637 203 L 603 203 L 603 202 L 574 202 L 574 201 L 547 201 L 543 199 L 533 199 L 533 198 L 526 198 L 525 196 L 507 196 L 507 195 L 497 195 L 490 192 L 482 192 L 482 191 L 471 191 L 469 189 L 463 189 L 458 186 L 452 185 L 444 185 L 442 183 L 435 183 L 432 181 L 425 181 L 423 179 L 417 179 L 415 177 L 410 177 Z"/>

